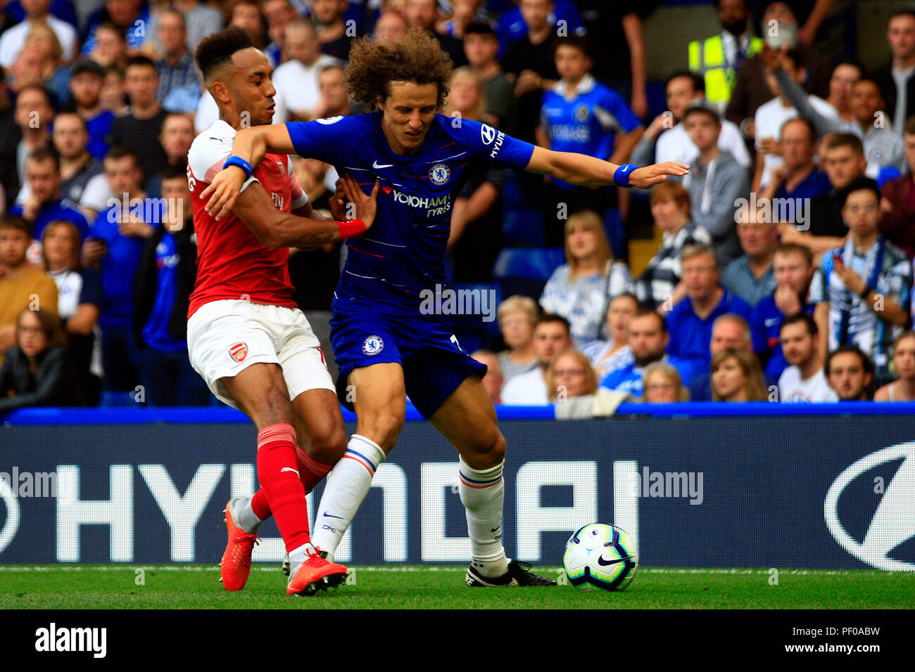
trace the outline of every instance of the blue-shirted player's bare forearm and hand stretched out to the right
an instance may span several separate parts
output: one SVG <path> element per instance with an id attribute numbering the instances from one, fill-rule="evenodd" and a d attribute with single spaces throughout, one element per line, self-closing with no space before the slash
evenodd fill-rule
<path id="1" fill-rule="evenodd" d="M 526 170 L 553 176 L 581 187 L 601 187 L 617 184 L 613 175 L 619 165 L 597 159 L 594 156 L 573 154 L 571 152 L 554 152 L 544 147 L 534 147 L 531 160 Z M 661 184 L 667 176 L 684 176 L 689 173 L 689 166 L 675 161 L 662 164 L 646 165 L 636 168 L 629 174 L 630 187 L 647 189 Z"/>

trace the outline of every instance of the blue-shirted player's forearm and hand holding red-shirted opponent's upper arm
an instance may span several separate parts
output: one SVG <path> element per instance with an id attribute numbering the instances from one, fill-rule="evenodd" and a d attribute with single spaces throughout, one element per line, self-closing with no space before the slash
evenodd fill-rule
<path id="1" fill-rule="evenodd" d="M 273 154 L 296 153 L 285 123 L 240 129 L 238 133 L 235 133 L 231 151 L 232 156 L 237 156 L 247 162 L 252 170 L 264 160 L 264 155 L 268 152 Z M 245 179 L 246 176 L 241 167 L 229 165 L 217 173 L 210 182 L 210 187 L 204 189 L 200 194 L 200 198 L 207 201 L 207 212 L 215 215 L 217 221 L 226 217 L 233 209 L 235 200 L 242 193 Z M 208 198 L 209 200 L 207 200 Z"/>

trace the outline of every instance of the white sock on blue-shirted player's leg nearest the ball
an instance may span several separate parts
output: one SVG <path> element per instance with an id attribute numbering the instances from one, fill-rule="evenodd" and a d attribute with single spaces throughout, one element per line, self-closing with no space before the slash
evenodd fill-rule
<path id="1" fill-rule="evenodd" d="M 471 469 L 460 461 L 460 500 L 467 510 L 470 537 L 470 564 L 483 576 L 496 577 L 509 571 L 509 561 L 502 548 L 502 500 L 505 481 L 504 462 L 490 469 Z"/>

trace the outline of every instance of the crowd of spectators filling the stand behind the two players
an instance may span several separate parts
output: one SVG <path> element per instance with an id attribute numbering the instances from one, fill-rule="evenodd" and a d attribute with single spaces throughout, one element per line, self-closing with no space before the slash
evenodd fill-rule
<path id="1" fill-rule="evenodd" d="M 889 17 L 886 67 L 868 72 L 823 56 L 834 0 L 710 0 L 720 31 L 690 36 L 658 110 L 642 22 L 659 4 L 6 3 L 0 411 L 214 402 L 187 356 L 186 168 L 218 113 L 194 48 L 227 26 L 274 67 L 274 123 L 368 112 L 344 86 L 353 40 L 418 27 L 456 66 L 445 114 L 615 164 L 691 165 L 649 193 L 471 172 L 453 204 L 452 282 L 498 285 L 507 246 L 565 252 L 500 304 L 498 334 L 473 341 L 497 403 L 601 390 L 650 403 L 915 399 L 915 8 Z M 336 168 L 294 168 L 325 207 Z M 639 207 L 660 241 L 634 273 Z M 296 301 L 325 341 L 345 250 L 290 256 Z"/>

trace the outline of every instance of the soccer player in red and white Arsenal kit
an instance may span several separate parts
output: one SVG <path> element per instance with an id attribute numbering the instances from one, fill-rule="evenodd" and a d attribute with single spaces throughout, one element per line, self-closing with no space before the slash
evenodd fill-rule
<path id="1" fill-rule="evenodd" d="M 350 177 L 343 194 L 357 219 L 315 219 L 289 157 L 267 155 L 253 171 L 242 166 L 246 180 L 231 214 L 210 217 L 200 193 L 226 164 L 240 128 L 271 123 L 276 91 L 267 59 L 240 28 L 201 40 L 196 59 L 220 119 L 188 152 L 198 244 L 188 353 L 213 393 L 257 427 L 261 483 L 253 497 L 226 505 L 221 578 L 226 590 L 244 587 L 256 530 L 273 515 L 289 554 L 286 592 L 308 594 L 346 577 L 345 567 L 310 543 L 306 495 L 337 463 L 347 438 L 318 338 L 293 301 L 288 248 L 360 235 L 374 218 L 377 189 L 367 197 Z M 341 208 L 338 197 L 334 211 Z"/>

